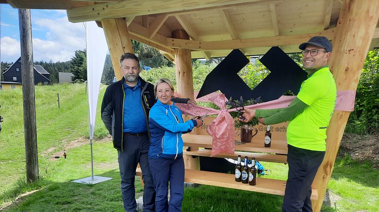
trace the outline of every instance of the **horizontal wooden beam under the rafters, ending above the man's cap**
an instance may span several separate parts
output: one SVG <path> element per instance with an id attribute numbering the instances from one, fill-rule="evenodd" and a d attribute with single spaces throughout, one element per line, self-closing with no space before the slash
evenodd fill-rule
<path id="1" fill-rule="evenodd" d="M 317 33 L 299 34 L 299 35 L 279 35 L 272 37 L 257 37 L 238 40 L 220 40 L 220 41 L 199 41 L 167 38 L 169 48 L 191 49 L 198 51 L 244 49 L 252 47 L 276 47 L 287 45 L 298 45 L 309 40 L 313 36 L 326 36 L 333 39 L 334 28 L 327 29 Z"/>

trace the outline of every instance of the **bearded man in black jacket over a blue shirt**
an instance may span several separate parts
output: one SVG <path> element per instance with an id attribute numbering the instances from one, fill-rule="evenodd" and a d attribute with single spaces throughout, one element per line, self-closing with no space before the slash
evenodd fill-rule
<path id="1" fill-rule="evenodd" d="M 140 163 L 144 183 L 143 211 L 154 211 L 155 191 L 147 155 L 150 146 L 148 115 L 155 103 L 154 87 L 139 76 L 141 68 L 136 55 L 123 54 L 120 66 L 123 77 L 105 91 L 101 117 L 118 152 L 124 209 L 137 211 L 134 178 Z M 193 100 L 180 98 L 174 98 L 174 102 L 196 104 Z"/>

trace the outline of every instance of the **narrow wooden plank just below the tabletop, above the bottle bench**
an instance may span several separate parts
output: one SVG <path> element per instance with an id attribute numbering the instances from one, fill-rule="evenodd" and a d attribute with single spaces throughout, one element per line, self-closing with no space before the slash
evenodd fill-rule
<path id="1" fill-rule="evenodd" d="M 205 156 L 210 157 L 212 153 L 211 149 L 199 149 L 192 151 L 183 151 L 183 154 L 186 155 L 196 155 L 196 156 Z M 287 163 L 287 155 L 278 155 L 278 154 L 268 154 L 268 153 L 255 153 L 255 152 L 240 152 L 235 151 L 234 154 L 222 153 L 218 154 L 214 157 L 222 157 L 222 158 L 234 158 L 236 159 L 238 155 L 241 155 L 242 158 L 247 156 L 249 159 L 255 157 L 258 161 L 266 161 L 266 162 L 277 162 L 277 163 Z"/>

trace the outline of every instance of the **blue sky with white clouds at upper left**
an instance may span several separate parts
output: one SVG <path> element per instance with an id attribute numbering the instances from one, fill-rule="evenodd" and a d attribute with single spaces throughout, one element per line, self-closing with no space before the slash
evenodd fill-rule
<path id="1" fill-rule="evenodd" d="M 15 62 L 20 56 L 18 10 L 7 4 L 1 7 L 1 55 L 3 62 Z M 75 50 L 85 49 L 83 23 L 71 23 L 65 10 L 30 10 L 33 60 L 69 61 Z"/>

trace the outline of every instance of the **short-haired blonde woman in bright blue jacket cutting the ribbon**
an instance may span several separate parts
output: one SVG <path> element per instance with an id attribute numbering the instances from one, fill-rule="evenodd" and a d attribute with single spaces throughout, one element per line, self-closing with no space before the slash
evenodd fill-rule
<path id="1" fill-rule="evenodd" d="M 183 122 L 182 114 L 171 101 L 172 82 L 159 79 L 154 86 L 157 102 L 149 113 L 149 165 L 155 189 L 156 211 L 180 211 L 184 191 L 184 161 L 182 133 L 202 125 L 202 120 Z M 170 182 L 170 203 L 167 201 Z"/>

